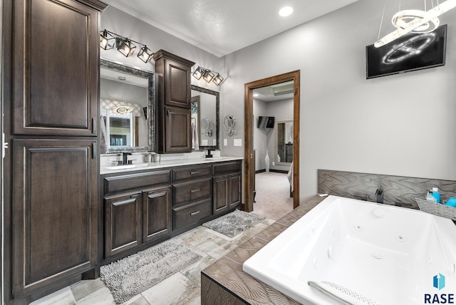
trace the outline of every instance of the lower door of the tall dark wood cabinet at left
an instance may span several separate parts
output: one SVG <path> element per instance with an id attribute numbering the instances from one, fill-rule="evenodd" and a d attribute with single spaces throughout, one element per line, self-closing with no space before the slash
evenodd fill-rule
<path id="1" fill-rule="evenodd" d="M 92 269 L 97 261 L 96 140 L 13 140 L 16 297 Z"/>

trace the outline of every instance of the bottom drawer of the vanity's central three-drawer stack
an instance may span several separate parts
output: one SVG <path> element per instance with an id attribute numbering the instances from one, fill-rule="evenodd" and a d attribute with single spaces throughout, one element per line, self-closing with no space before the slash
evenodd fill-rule
<path id="1" fill-rule="evenodd" d="M 185 207 L 172 210 L 174 229 L 183 229 L 212 215 L 212 202 L 210 199 L 196 202 Z"/>

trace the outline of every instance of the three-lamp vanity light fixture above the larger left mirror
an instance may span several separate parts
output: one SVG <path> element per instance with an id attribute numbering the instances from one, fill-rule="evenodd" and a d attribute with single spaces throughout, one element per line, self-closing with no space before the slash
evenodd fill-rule
<path id="1" fill-rule="evenodd" d="M 152 55 L 154 53 L 150 50 L 150 48 L 147 48 L 145 44 L 123 37 L 108 30 L 100 31 L 100 48 L 103 48 L 104 50 L 110 50 L 116 46 L 118 51 L 122 53 L 123 56 L 128 57 L 135 53 L 135 43 L 142 46 L 138 53 L 138 58 L 140 58 L 141 61 L 144 61 L 144 63 L 148 63 L 152 59 Z"/>

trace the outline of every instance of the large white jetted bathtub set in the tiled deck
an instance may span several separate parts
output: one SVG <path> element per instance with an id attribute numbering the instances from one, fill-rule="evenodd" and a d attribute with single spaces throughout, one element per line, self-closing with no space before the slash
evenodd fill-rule
<path id="1" fill-rule="evenodd" d="M 329 196 L 243 269 L 302 304 L 410 305 L 456 294 L 455 264 L 450 219 Z M 433 286 L 439 274 L 440 289 Z"/>

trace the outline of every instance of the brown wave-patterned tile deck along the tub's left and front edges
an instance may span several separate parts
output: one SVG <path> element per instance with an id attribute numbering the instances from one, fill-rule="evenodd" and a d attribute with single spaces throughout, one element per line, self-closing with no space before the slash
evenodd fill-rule
<path id="1" fill-rule="evenodd" d="M 299 304 L 242 271 L 242 264 L 324 199 L 312 197 L 204 269 L 201 272 L 201 304 Z"/>

